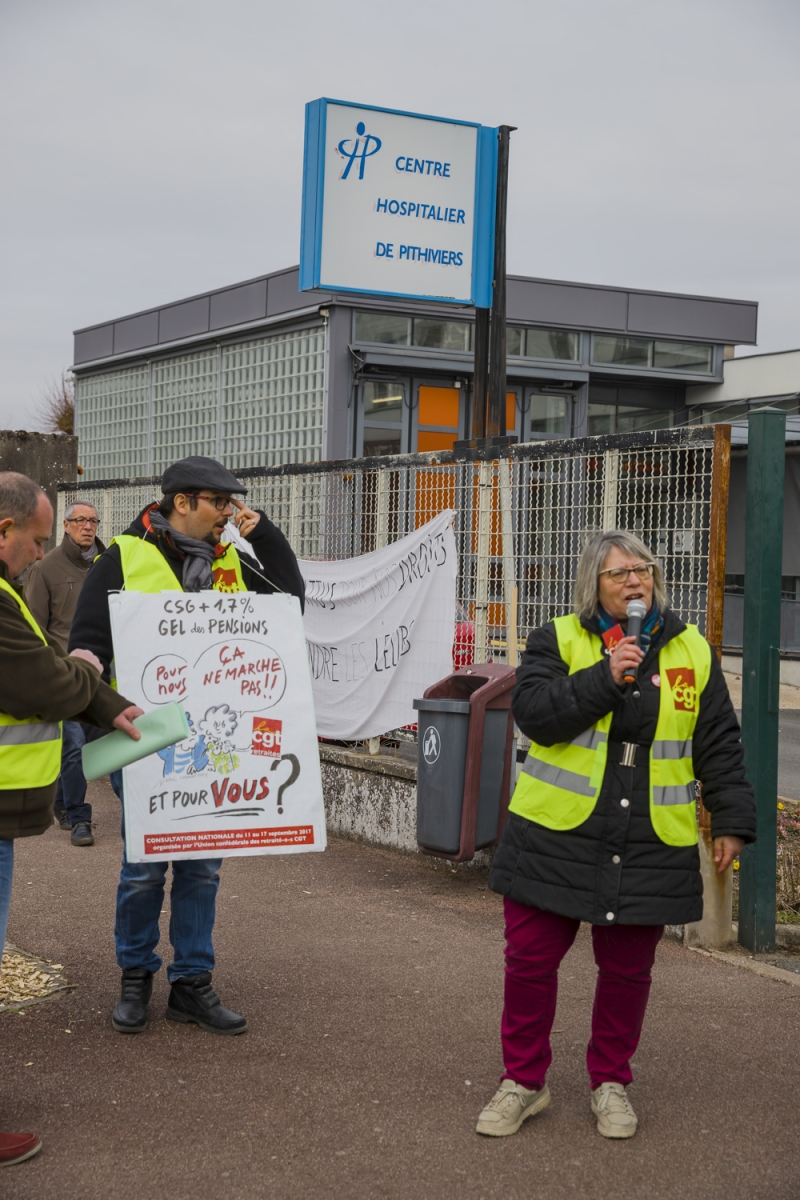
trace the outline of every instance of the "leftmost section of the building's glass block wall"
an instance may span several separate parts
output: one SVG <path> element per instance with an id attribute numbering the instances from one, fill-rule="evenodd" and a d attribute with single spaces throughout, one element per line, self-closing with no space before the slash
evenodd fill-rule
<path id="1" fill-rule="evenodd" d="M 77 384 L 78 461 L 85 479 L 150 473 L 150 365 L 83 377 Z"/>

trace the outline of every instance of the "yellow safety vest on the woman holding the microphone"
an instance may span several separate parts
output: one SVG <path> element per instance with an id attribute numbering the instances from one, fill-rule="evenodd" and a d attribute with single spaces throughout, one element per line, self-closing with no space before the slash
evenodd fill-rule
<path id="1" fill-rule="evenodd" d="M 603 658 L 602 640 L 578 618 L 553 622 L 559 653 L 570 674 Z M 711 673 L 711 647 L 696 625 L 687 625 L 658 652 L 661 697 L 656 736 L 650 748 L 650 820 L 668 846 L 697 842 L 692 734 L 699 697 Z M 552 746 L 531 742 L 511 798 L 511 812 L 547 829 L 575 829 L 591 815 L 600 796 L 608 752 L 612 713 L 572 742 Z"/>

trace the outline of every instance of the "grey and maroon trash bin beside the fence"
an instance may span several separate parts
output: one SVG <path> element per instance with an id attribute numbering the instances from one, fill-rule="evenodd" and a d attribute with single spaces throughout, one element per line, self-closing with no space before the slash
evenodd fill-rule
<path id="1" fill-rule="evenodd" d="M 423 854 L 463 863 L 493 846 L 512 785 L 513 667 L 461 667 L 414 701 L 419 713 L 416 840 Z"/>

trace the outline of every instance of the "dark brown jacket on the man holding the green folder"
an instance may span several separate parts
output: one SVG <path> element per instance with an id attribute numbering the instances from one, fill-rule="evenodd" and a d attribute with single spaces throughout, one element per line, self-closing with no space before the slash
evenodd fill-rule
<path id="1" fill-rule="evenodd" d="M 0 575 L 13 587 L 4 562 Z M 16 600 L 0 592 L 0 712 L 17 720 L 72 718 L 112 730 L 114 718 L 130 703 L 104 684 L 89 662 L 68 658 L 49 636 L 46 646 Z M 53 823 L 55 787 L 55 781 L 38 787 L 31 779 L 28 788 L 4 788 L 0 776 L 0 838 L 44 833 Z"/>

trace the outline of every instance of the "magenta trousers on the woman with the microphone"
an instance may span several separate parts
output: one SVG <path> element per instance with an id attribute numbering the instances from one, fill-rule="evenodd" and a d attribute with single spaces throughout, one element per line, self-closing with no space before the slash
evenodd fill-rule
<path id="1" fill-rule="evenodd" d="M 503 1008 L 504 1079 L 539 1091 L 553 1055 L 551 1028 L 558 968 L 581 925 L 571 917 L 530 908 L 505 898 L 506 974 Z M 663 925 L 593 925 L 597 986 L 591 1010 L 587 1069 L 591 1088 L 632 1080 L 650 995 L 650 970 Z"/>

